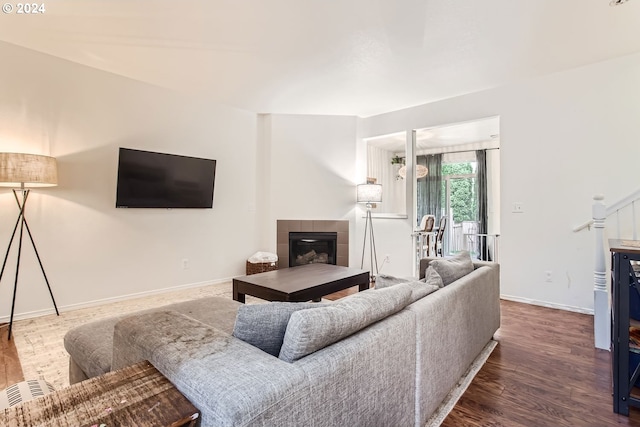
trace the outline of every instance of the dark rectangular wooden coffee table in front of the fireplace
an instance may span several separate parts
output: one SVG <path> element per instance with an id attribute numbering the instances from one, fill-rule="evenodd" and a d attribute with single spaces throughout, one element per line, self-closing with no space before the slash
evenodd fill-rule
<path id="1" fill-rule="evenodd" d="M 332 264 L 308 264 L 233 279 L 233 299 L 245 302 L 245 295 L 267 301 L 301 302 L 352 286 L 369 289 L 369 272 Z"/>

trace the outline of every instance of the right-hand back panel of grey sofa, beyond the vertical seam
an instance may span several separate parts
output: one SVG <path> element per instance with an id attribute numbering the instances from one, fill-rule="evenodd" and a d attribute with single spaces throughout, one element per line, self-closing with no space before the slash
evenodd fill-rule
<path id="1" fill-rule="evenodd" d="M 416 410 L 420 425 L 500 327 L 499 267 L 497 263 L 478 266 L 407 308 L 415 313 L 418 325 Z"/>

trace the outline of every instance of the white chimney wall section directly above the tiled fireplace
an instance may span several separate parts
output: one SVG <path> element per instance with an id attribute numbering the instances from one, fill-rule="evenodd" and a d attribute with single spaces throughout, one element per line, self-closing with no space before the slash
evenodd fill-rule
<path id="1" fill-rule="evenodd" d="M 261 116 L 263 250 L 276 252 L 278 219 L 347 219 L 349 264 L 356 266 L 356 132 L 350 116 Z"/>

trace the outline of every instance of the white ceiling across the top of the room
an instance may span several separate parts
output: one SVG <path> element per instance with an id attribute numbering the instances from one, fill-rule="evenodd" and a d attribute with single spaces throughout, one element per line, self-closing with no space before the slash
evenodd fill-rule
<path id="1" fill-rule="evenodd" d="M 640 0 L 609 1 L 49 0 L 1 14 L 0 41 L 258 113 L 370 116 L 640 51 Z"/>

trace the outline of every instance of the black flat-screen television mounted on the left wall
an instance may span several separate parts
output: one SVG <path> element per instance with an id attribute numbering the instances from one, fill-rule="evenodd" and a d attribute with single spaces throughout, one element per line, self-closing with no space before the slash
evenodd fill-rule
<path id="1" fill-rule="evenodd" d="M 117 208 L 212 208 L 216 161 L 120 148 Z"/>

